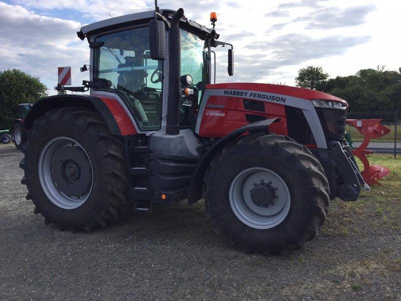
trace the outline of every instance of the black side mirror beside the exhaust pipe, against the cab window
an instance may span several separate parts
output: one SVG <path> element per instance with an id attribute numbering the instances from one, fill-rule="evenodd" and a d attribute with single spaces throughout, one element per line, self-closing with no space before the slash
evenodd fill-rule
<path id="1" fill-rule="evenodd" d="M 158 20 L 149 22 L 149 48 L 152 60 L 163 61 L 166 58 L 166 36 L 164 23 Z"/>

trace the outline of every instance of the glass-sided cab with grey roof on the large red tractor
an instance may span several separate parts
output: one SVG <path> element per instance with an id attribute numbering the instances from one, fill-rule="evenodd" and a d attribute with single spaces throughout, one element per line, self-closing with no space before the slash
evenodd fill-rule
<path id="1" fill-rule="evenodd" d="M 206 84 L 211 83 L 211 47 L 227 44 L 216 45 L 219 35 L 214 29 L 182 16 L 178 22 L 178 45 L 169 45 L 169 48 L 164 45 L 163 58 L 154 58 L 150 51 L 154 45 L 150 45 L 152 39 L 149 38 L 165 35 L 168 40 L 173 31 L 170 22 L 174 13 L 160 10 L 132 14 L 84 26 L 78 32 L 78 36 L 86 37 L 90 44 L 90 80 L 102 83 L 91 88 L 90 94 L 117 96 L 130 110 L 137 132 L 165 130 L 168 80 L 176 71 L 180 79 L 177 83 L 178 124 L 181 129 L 191 127 L 194 130 L 199 102 Z M 166 30 L 150 32 L 149 22 L 155 16 Z M 177 59 L 172 59 L 173 56 Z"/>

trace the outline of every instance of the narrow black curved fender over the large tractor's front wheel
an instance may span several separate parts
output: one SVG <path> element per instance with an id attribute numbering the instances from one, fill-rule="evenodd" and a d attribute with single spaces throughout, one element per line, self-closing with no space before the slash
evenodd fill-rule
<path id="1" fill-rule="evenodd" d="M 231 141 L 242 135 L 244 132 L 249 131 L 250 134 L 257 132 L 269 132 L 268 126 L 273 122 L 280 121 L 281 118 L 272 118 L 266 119 L 258 122 L 251 123 L 249 125 L 245 125 L 232 131 L 231 133 L 225 135 L 220 138 L 216 143 L 212 145 L 211 148 L 208 149 L 206 154 L 200 159 L 195 172 L 193 173 L 191 182 L 189 184 L 189 192 L 188 192 L 188 205 L 196 203 L 202 198 L 202 190 L 204 187 L 204 176 L 206 171 L 208 170 L 213 157 L 227 144 Z"/>

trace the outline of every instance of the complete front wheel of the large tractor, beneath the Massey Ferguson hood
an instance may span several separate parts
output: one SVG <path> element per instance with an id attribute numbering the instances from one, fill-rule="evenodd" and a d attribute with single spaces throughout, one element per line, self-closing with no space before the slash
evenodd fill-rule
<path id="1" fill-rule="evenodd" d="M 287 136 L 255 134 L 229 144 L 213 159 L 205 182 L 215 230 L 246 252 L 302 248 L 316 236 L 329 207 L 319 161 Z M 243 187 L 233 193 L 238 183 Z M 262 191 L 259 197 L 253 187 Z"/>

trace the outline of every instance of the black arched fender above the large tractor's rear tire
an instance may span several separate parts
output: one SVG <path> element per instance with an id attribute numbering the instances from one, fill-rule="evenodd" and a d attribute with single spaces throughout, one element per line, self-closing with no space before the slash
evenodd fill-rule
<path id="1" fill-rule="evenodd" d="M 102 116 L 109 131 L 115 135 L 121 135 L 120 128 L 113 114 L 103 100 L 90 95 L 54 95 L 39 99 L 29 110 L 24 119 L 24 127 L 29 130 L 36 119 L 46 112 L 67 106 L 94 107 Z"/>

